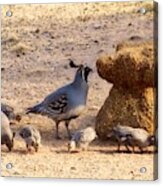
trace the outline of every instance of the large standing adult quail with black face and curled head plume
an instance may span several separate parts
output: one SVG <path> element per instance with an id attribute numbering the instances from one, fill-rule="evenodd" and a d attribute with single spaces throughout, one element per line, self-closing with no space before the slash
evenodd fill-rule
<path id="1" fill-rule="evenodd" d="M 27 114 L 41 114 L 54 120 L 57 139 L 60 138 L 58 126 L 61 121 L 65 122 L 67 133 L 71 136 L 69 122 L 82 114 L 87 101 L 87 81 L 92 69 L 84 65 L 75 65 L 73 61 L 70 61 L 70 66 L 77 68 L 73 82 L 51 93 L 38 105 L 27 109 Z"/>

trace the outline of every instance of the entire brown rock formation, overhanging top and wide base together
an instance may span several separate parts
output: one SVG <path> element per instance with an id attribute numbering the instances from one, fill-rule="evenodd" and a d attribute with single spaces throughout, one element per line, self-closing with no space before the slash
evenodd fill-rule
<path id="1" fill-rule="evenodd" d="M 97 60 L 99 75 L 113 83 L 96 118 L 96 132 L 105 139 L 117 124 L 155 130 L 156 63 L 153 42 L 125 42 L 116 53 Z"/>

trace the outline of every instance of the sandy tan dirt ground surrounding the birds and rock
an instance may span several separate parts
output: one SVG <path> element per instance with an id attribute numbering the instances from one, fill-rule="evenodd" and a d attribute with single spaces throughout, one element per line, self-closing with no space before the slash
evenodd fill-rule
<path id="1" fill-rule="evenodd" d="M 147 13 L 138 10 L 145 6 Z M 12 17 L 5 12 L 11 10 Z M 109 94 L 111 84 L 96 72 L 96 59 L 112 53 L 117 43 L 140 36 L 153 37 L 151 3 L 83 3 L 17 5 L 2 7 L 2 102 L 16 112 L 41 101 L 57 88 L 71 82 L 75 70 L 68 59 L 93 68 L 89 77 L 87 111 L 71 122 L 71 131 L 94 125 L 95 117 Z M 62 140 L 54 138 L 55 125 L 46 117 L 23 116 L 12 126 L 18 130 L 31 123 L 41 131 L 38 153 L 26 154 L 24 142 L 16 138 L 14 150 L 2 146 L 2 175 L 86 179 L 154 178 L 154 155 L 116 153 L 110 142 L 96 140 L 88 152 L 69 154 L 64 125 Z M 12 163 L 12 169 L 6 164 Z M 146 173 L 140 168 L 146 167 Z"/>

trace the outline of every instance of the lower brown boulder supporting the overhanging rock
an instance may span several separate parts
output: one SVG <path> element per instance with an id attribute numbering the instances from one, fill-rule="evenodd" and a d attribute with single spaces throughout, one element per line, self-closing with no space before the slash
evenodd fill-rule
<path id="1" fill-rule="evenodd" d="M 117 124 L 140 127 L 150 134 L 155 130 L 154 89 L 147 88 L 135 94 L 113 88 L 96 118 L 96 131 L 100 138 Z"/>

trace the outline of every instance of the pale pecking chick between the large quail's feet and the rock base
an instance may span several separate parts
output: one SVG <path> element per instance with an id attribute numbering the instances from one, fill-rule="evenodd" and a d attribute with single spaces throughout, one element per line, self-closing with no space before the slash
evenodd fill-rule
<path id="1" fill-rule="evenodd" d="M 92 127 L 75 132 L 68 143 L 68 151 L 74 151 L 77 147 L 87 150 L 89 144 L 97 137 Z"/>

